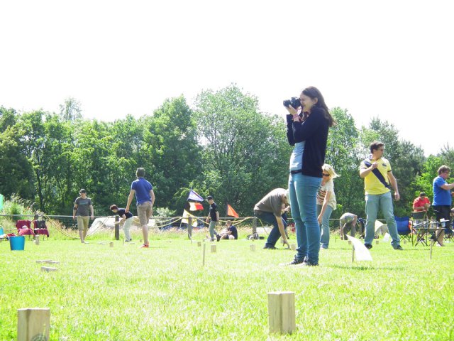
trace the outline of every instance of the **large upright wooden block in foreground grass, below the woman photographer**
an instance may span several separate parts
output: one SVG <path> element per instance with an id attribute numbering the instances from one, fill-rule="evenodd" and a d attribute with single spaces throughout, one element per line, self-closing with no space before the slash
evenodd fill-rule
<path id="1" fill-rule="evenodd" d="M 294 292 L 268 293 L 268 323 L 270 333 L 292 333 L 297 329 Z"/>

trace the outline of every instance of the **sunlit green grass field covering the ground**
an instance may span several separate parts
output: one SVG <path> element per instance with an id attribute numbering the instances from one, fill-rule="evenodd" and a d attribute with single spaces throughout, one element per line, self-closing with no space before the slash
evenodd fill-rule
<path id="1" fill-rule="evenodd" d="M 56 232 L 55 232 L 56 233 Z M 245 232 L 216 253 L 184 234 L 150 234 L 150 249 L 110 235 L 0 242 L 0 340 L 16 340 L 18 308 L 50 308 L 50 340 L 453 340 L 454 243 L 374 244 L 372 262 L 353 262 L 331 239 L 320 266 L 278 266 L 294 251 L 250 251 Z M 99 244 L 104 242 L 106 244 Z M 294 243 L 292 238 L 290 242 Z M 53 259 L 57 272 L 36 260 Z M 297 330 L 270 335 L 267 293 L 294 291 Z"/>

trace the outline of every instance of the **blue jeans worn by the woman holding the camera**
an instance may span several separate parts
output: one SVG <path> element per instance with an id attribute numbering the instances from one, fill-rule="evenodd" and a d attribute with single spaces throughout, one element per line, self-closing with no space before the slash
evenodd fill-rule
<path id="1" fill-rule="evenodd" d="M 316 205 L 320 184 L 321 178 L 301 173 L 289 175 L 290 205 L 297 229 L 297 261 L 303 261 L 307 257 L 311 263 L 319 263 L 320 226 Z"/>

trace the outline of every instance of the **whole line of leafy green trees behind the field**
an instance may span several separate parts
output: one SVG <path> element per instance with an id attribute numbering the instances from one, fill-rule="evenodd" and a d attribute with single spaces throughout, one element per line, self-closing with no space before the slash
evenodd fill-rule
<path id="1" fill-rule="evenodd" d="M 396 215 L 409 215 L 421 190 L 432 198 L 436 170 L 454 165 L 449 146 L 425 158 L 388 121 L 375 118 L 358 129 L 347 109 L 335 107 L 331 114 L 337 124 L 328 135 L 326 163 L 341 175 L 333 218 L 343 212 L 365 215 L 358 170 L 371 141 L 384 142 L 384 157 L 397 178 L 402 199 L 395 202 Z M 260 112 L 258 99 L 236 85 L 202 91 L 193 107 L 180 96 L 165 100 L 153 114 L 114 122 L 83 119 L 74 99 L 66 99 L 60 113 L 0 107 L 0 193 L 31 200 L 34 210 L 48 215 L 71 215 L 85 188 L 95 214 L 106 215 L 109 205 L 126 205 L 135 169 L 143 167 L 156 207 L 167 214 L 182 214 L 192 188 L 213 195 L 221 215 L 230 204 L 250 216 L 263 195 L 287 188 L 292 147 L 285 129 L 283 114 Z"/>

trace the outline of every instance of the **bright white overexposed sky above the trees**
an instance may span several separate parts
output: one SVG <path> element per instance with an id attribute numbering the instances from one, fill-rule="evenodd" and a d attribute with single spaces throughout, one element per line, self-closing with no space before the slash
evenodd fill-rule
<path id="1" fill-rule="evenodd" d="M 454 2 L 1 1 L 0 106 L 151 114 L 236 83 L 262 112 L 314 85 L 358 127 L 372 117 L 438 153 L 453 139 Z"/>

